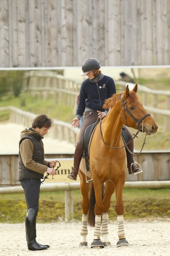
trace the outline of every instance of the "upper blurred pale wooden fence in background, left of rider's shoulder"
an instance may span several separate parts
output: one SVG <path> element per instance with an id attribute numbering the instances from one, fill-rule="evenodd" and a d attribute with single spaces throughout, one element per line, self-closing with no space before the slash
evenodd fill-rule
<path id="1" fill-rule="evenodd" d="M 53 103 L 77 106 L 77 95 L 81 81 L 66 78 L 51 71 L 28 71 L 25 73 L 23 88 L 33 96 L 47 100 L 49 95 L 53 97 Z"/>

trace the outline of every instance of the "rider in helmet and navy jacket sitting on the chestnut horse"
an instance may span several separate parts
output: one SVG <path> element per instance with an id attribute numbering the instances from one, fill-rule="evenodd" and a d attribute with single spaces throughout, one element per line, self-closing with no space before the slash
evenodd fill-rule
<path id="1" fill-rule="evenodd" d="M 84 120 L 80 128 L 79 140 L 76 145 L 74 154 L 74 168 L 67 178 L 71 180 L 77 179 L 79 166 L 84 151 L 84 133 L 86 128 L 94 123 L 98 118 L 105 117 L 109 109 L 104 110 L 104 101 L 110 98 L 116 93 L 115 84 L 113 78 L 105 76 L 101 73 L 100 63 L 95 58 L 88 58 L 82 64 L 81 76 L 88 76 L 88 79 L 82 82 L 79 95 L 79 104 L 77 107 L 76 117 L 72 120 L 72 127 L 76 128 L 79 126 L 80 118 L 84 114 Z M 125 126 L 128 139 L 132 139 L 132 135 Z M 133 140 L 128 144 L 129 150 L 133 153 Z M 134 165 L 133 155 L 127 152 L 127 166 L 129 174 L 142 172 L 141 168 L 137 168 Z M 132 165 L 132 167 L 131 167 Z M 132 170 L 131 170 L 132 169 Z"/>

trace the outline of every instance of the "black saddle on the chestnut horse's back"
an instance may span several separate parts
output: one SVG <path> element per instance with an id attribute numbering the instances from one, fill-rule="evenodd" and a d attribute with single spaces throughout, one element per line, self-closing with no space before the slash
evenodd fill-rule
<path id="1" fill-rule="evenodd" d="M 96 120 L 94 123 L 92 123 L 91 125 L 89 125 L 84 133 L 84 153 L 83 153 L 83 157 L 85 158 L 85 162 L 86 162 L 86 170 L 90 171 L 90 166 L 89 166 L 89 146 L 91 143 L 91 139 L 93 137 L 93 133 L 98 125 L 100 121 Z M 122 138 L 123 138 L 123 142 L 126 144 L 128 143 L 128 135 L 126 132 L 126 129 L 123 125 L 122 127 Z"/>

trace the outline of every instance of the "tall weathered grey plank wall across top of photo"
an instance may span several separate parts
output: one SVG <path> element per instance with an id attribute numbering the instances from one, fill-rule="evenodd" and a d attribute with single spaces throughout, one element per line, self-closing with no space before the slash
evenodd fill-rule
<path id="1" fill-rule="evenodd" d="M 170 64 L 169 0 L 1 0 L 0 67 Z"/>

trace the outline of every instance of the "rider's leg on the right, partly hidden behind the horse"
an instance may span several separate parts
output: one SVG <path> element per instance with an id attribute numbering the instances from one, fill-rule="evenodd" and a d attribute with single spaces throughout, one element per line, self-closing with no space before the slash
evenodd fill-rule
<path id="1" fill-rule="evenodd" d="M 128 135 L 128 140 L 130 141 L 132 139 L 132 135 L 130 131 L 127 129 L 127 127 L 126 126 L 124 127 Z M 127 145 L 127 147 L 133 153 L 133 150 L 134 150 L 133 140 Z M 137 174 L 139 172 L 142 172 L 142 169 L 140 167 L 136 167 L 134 165 L 133 154 L 129 153 L 127 149 L 126 149 L 126 156 L 127 156 L 127 167 L 128 167 L 129 174 Z"/>

